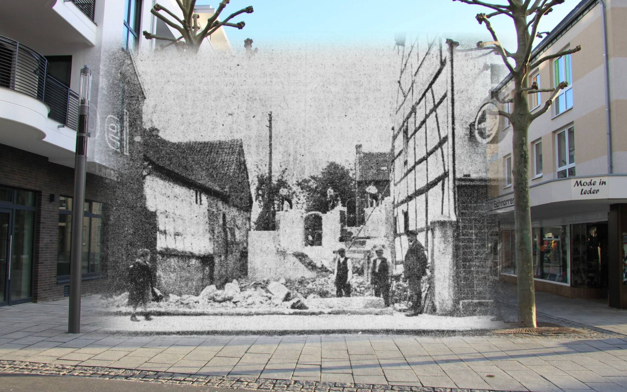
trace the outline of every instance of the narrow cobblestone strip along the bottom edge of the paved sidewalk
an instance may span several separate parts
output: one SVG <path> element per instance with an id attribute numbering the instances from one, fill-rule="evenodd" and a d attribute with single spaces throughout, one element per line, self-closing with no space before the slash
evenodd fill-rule
<path id="1" fill-rule="evenodd" d="M 0 361 L 0 372 L 44 374 L 56 376 L 82 376 L 100 379 L 124 379 L 149 383 L 187 384 L 213 388 L 254 389 L 261 391 L 300 392 L 513 392 L 495 389 L 433 388 L 429 386 L 396 386 L 378 384 L 329 383 L 325 381 L 290 381 L 268 378 L 240 378 L 229 376 L 201 376 L 134 369 L 114 369 L 95 366 L 73 366 L 33 363 L 25 361 Z"/>

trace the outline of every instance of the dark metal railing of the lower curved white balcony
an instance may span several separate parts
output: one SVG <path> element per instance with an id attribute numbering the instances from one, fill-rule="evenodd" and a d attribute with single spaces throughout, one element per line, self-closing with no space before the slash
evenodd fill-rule
<path id="1" fill-rule="evenodd" d="M 48 60 L 18 41 L 0 36 L 0 87 L 36 98 L 50 107 L 48 117 L 76 129 L 78 94 L 47 73 Z"/>

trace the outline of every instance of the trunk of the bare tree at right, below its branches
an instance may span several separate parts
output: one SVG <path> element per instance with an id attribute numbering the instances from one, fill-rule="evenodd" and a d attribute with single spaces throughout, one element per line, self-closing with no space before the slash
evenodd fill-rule
<path id="1" fill-rule="evenodd" d="M 512 123 L 514 168 L 515 257 L 518 277 L 518 318 L 523 327 L 535 327 L 534 263 L 532 257 L 531 209 L 529 206 L 529 125 Z"/>

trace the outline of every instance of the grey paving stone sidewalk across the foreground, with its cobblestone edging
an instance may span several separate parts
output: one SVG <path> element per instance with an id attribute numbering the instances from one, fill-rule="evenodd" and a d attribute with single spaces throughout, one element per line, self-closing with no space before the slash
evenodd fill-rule
<path id="1" fill-rule="evenodd" d="M 580 305 L 577 317 L 586 312 L 592 317 L 593 308 Z M 595 320 L 621 331 L 625 315 L 611 312 L 611 320 L 603 321 L 603 314 Z M 132 336 L 103 332 L 97 326 L 102 319 L 88 308 L 83 308 L 82 333 L 66 334 L 66 317 L 63 302 L 1 308 L 0 370 L 338 392 L 627 392 L 627 336 L 616 332 L 561 337 Z"/>

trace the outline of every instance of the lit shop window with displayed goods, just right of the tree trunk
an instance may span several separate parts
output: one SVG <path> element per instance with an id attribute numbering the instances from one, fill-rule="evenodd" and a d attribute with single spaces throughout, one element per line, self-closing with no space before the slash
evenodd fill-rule
<path id="1" fill-rule="evenodd" d="M 568 226 L 533 228 L 534 278 L 569 283 Z"/>

